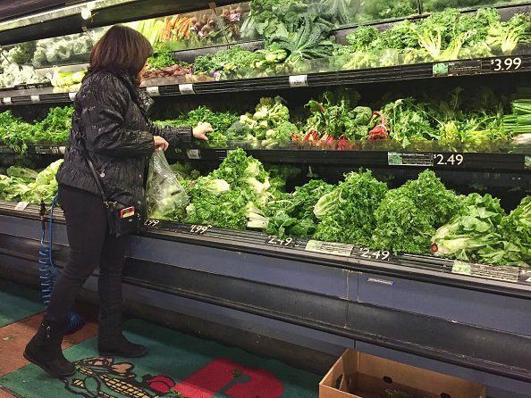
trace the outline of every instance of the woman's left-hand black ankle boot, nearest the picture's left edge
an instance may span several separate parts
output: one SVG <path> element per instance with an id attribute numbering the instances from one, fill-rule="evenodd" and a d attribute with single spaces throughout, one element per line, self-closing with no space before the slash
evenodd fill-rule
<path id="1" fill-rule="evenodd" d="M 66 321 L 43 319 L 37 334 L 24 350 L 24 358 L 36 364 L 51 377 L 63 378 L 76 372 L 75 365 L 64 358 L 61 350 Z"/>

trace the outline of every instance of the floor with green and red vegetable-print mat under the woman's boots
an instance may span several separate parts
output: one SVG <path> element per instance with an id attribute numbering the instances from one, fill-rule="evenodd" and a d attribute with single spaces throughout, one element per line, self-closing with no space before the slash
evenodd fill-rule
<path id="1" fill-rule="evenodd" d="M 64 380 L 47 377 L 22 357 L 42 319 L 39 292 L 0 280 L 0 398 L 318 395 L 322 375 L 140 319 L 127 319 L 124 333 L 146 344 L 149 355 L 134 360 L 101 358 L 96 350 L 95 307 L 81 303 L 76 311 L 86 324 L 65 337 L 63 352 L 78 372 Z"/>

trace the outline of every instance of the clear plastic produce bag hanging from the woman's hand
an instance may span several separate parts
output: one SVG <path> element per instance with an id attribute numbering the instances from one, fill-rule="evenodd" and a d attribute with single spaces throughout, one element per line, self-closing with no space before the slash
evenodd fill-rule
<path id="1" fill-rule="evenodd" d="M 175 220 L 188 202 L 189 197 L 179 179 L 170 169 L 164 151 L 153 153 L 147 179 L 147 217 L 158 220 Z"/>

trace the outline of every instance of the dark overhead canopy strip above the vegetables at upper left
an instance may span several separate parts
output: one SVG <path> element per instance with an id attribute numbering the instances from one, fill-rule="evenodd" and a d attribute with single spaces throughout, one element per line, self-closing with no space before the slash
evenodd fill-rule
<path id="1" fill-rule="evenodd" d="M 121 0 L 117 0 L 120 2 Z M 10 45 L 46 37 L 80 33 L 83 27 L 97 28 L 114 23 L 138 21 L 142 19 L 171 15 L 180 12 L 205 10 L 214 4 L 208 0 L 136 0 L 124 4 L 110 5 L 93 12 L 92 20 L 85 21 L 80 12 L 64 12 L 64 6 L 91 3 L 89 1 L 58 0 L 0 0 L 0 45 Z M 215 5 L 240 3 L 233 0 L 218 0 Z M 75 10 L 79 7 L 70 7 Z M 10 20 L 46 12 L 44 20 L 33 24 L 13 23 L 9 29 L 2 29 L 3 23 Z M 50 18 L 52 17 L 52 18 Z"/>

